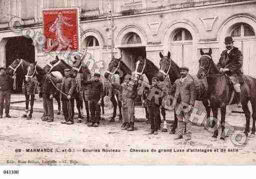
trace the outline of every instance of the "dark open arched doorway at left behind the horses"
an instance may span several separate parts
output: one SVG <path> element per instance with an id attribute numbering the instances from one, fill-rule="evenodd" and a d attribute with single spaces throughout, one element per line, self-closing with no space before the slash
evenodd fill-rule
<path id="1" fill-rule="evenodd" d="M 35 51 L 33 41 L 25 37 L 11 37 L 7 40 L 5 45 L 5 66 L 6 68 L 17 58 L 22 58 L 29 63 L 34 62 Z M 22 91 L 22 80 L 24 74 L 17 71 L 16 83 L 17 88 L 14 92 Z"/>

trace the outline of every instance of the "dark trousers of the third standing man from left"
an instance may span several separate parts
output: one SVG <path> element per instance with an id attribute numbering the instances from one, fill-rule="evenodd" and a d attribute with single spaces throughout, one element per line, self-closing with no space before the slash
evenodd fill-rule
<path id="1" fill-rule="evenodd" d="M 69 103 L 70 101 L 70 103 Z M 62 111 L 65 121 L 74 121 L 74 99 L 62 99 Z"/>

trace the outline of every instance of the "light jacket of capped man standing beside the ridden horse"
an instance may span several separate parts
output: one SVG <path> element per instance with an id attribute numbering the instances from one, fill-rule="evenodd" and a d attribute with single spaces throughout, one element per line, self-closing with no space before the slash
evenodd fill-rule
<path id="1" fill-rule="evenodd" d="M 194 106 L 196 101 L 196 86 L 190 75 L 182 83 L 180 79 L 177 79 L 174 82 L 173 88 L 175 89 L 174 100 L 177 100 L 177 104 L 184 102 L 185 104 Z"/>

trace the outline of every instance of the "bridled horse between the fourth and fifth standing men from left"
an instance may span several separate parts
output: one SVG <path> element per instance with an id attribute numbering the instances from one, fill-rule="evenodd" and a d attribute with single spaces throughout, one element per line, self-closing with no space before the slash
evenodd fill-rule
<path id="1" fill-rule="evenodd" d="M 108 69 L 104 74 L 104 77 L 106 79 L 111 79 L 111 77 L 114 74 L 119 74 L 120 76 L 120 84 L 123 83 L 124 81 L 124 77 L 129 74 L 131 75 L 132 72 L 130 70 L 130 68 L 121 60 L 122 57 L 120 58 L 112 58 L 112 60 L 110 61 L 110 63 L 108 64 Z M 111 77 L 110 77 L 111 75 Z M 118 93 L 115 92 L 115 89 L 117 89 L 118 87 L 114 84 L 111 84 L 110 90 L 111 90 L 111 102 L 113 103 L 113 116 L 111 117 L 111 122 L 113 122 L 115 120 L 116 117 L 116 108 L 117 108 L 117 102 L 118 102 L 118 108 L 119 108 L 119 121 L 122 120 L 122 102 L 119 99 L 119 95 Z M 118 89 L 119 90 L 119 89 Z M 117 97 L 117 102 L 115 100 L 115 96 Z"/>

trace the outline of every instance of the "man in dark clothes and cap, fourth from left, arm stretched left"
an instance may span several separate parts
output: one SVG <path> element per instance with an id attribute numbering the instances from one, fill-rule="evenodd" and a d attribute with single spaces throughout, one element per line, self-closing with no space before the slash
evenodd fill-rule
<path id="1" fill-rule="evenodd" d="M 100 74 L 94 73 L 93 79 L 90 81 L 83 80 L 84 85 L 91 85 L 91 89 L 88 94 L 90 105 L 90 123 L 88 127 L 99 127 L 100 121 L 100 105 L 104 95 L 103 84 L 100 82 Z"/>

